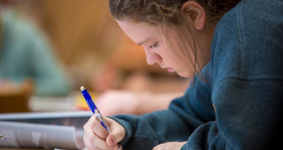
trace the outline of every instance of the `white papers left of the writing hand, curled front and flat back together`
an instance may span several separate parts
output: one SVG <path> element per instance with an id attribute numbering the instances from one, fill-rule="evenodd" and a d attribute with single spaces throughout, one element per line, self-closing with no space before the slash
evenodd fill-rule
<path id="1" fill-rule="evenodd" d="M 1 114 L 0 147 L 83 149 L 82 125 L 91 115 L 85 111 Z"/>

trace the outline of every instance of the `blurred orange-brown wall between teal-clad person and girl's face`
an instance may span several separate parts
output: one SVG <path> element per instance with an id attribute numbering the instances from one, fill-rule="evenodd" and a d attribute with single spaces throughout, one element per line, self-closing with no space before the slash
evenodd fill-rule
<path id="1" fill-rule="evenodd" d="M 107 61 L 119 69 L 146 69 L 150 66 L 142 46 L 137 46 L 108 13 L 104 0 L 32 0 L 37 21 L 47 31 L 61 62 L 78 84 L 86 84 L 89 70 Z"/>

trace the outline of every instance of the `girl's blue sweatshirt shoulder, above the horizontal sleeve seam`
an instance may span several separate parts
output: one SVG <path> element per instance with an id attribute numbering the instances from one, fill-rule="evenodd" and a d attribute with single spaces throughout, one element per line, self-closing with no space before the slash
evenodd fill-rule
<path id="1" fill-rule="evenodd" d="M 278 0 L 242 0 L 219 20 L 211 46 L 213 82 L 283 76 L 282 8 Z"/>

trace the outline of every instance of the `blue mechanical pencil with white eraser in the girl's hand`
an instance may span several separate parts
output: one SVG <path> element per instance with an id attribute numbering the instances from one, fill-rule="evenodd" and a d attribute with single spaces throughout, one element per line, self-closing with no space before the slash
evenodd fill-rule
<path id="1" fill-rule="evenodd" d="M 91 109 L 92 113 L 94 114 L 94 116 L 99 119 L 100 124 L 109 132 L 111 133 L 108 125 L 106 124 L 106 122 L 103 119 L 103 116 L 100 114 L 98 108 L 96 107 L 95 103 L 92 100 L 92 97 L 89 95 L 89 93 L 87 92 L 87 90 L 85 89 L 85 87 L 81 86 L 80 87 L 81 93 L 82 95 L 85 97 L 86 103 L 88 105 L 88 107 Z M 118 145 L 118 150 L 121 150 L 120 145 Z"/>

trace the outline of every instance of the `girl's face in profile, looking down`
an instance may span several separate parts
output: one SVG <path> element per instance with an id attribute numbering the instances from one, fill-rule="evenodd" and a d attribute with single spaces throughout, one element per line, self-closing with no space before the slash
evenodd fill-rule
<path id="1" fill-rule="evenodd" d="M 162 34 L 160 28 L 150 26 L 145 23 L 133 23 L 129 21 L 117 22 L 121 29 L 134 42 L 144 47 L 148 64 L 153 65 L 157 63 L 160 65 L 161 68 L 167 69 L 169 72 L 177 72 L 177 74 L 183 77 L 191 77 L 194 74 L 194 68 L 191 65 L 191 61 L 186 57 L 184 53 L 182 53 L 180 49 L 176 48 L 180 47 L 178 43 L 188 43 L 187 41 L 171 39 L 172 45 L 170 47 L 167 47 L 167 45 L 165 44 L 166 37 Z M 203 33 L 199 34 L 201 35 Z M 209 61 L 206 59 L 207 57 L 209 59 L 209 56 L 207 55 L 210 55 L 210 44 L 206 47 L 203 46 L 206 44 L 197 45 L 197 60 L 201 69 Z M 185 46 L 189 52 L 189 55 L 192 58 L 192 61 L 194 62 L 195 57 L 191 51 L 191 47 L 186 44 Z M 172 48 L 174 48 L 174 50 Z M 202 48 L 205 48 L 205 52 L 209 52 L 203 53 L 204 51 L 200 51 L 200 49 Z"/>

